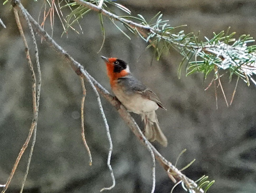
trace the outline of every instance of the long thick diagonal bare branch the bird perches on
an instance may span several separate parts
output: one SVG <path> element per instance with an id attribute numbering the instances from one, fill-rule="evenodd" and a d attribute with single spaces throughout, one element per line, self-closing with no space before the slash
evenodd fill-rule
<path id="1" fill-rule="evenodd" d="M 78 0 L 76 0 L 78 1 Z M 82 1 L 81 1 L 82 2 Z M 87 3 L 87 2 L 84 2 Z M 140 140 L 141 143 L 143 143 L 146 147 L 148 147 L 148 145 L 150 146 L 150 148 L 152 149 L 152 151 L 154 152 L 155 158 L 159 161 L 159 163 L 163 166 L 163 168 L 167 171 L 169 170 L 174 178 L 176 180 L 184 180 L 186 179 L 186 181 L 188 181 L 189 184 L 185 183 L 187 187 L 187 189 L 191 189 L 194 192 L 203 192 L 203 190 L 197 187 L 197 184 L 187 178 L 184 174 L 182 174 L 177 168 L 175 168 L 169 161 L 167 161 L 155 148 L 154 146 L 148 142 L 148 140 L 144 137 L 143 134 L 141 134 L 140 129 L 137 125 L 137 123 L 134 121 L 134 119 L 131 117 L 130 113 L 127 112 L 126 108 L 124 106 L 122 106 L 120 104 L 120 102 L 118 100 L 116 100 L 112 95 L 110 95 L 110 93 L 104 88 L 102 87 L 91 75 L 88 74 L 88 72 L 84 69 L 84 67 L 79 64 L 77 61 L 75 61 L 63 48 L 61 48 L 41 27 L 40 25 L 34 20 L 34 18 L 32 18 L 32 16 L 26 11 L 26 9 L 22 6 L 22 4 L 17 1 L 16 3 L 16 7 L 23 9 L 30 21 L 31 24 L 33 26 L 33 28 L 37 31 L 37 34 L 39 34 L 43 39 L 45 39 L 46 42 L 50 43 L 50 45 L 52 45 L 54 47 L 54 49 L 61 54 L 62 56 L 65 57 L 65 59 L 68 61 L 68 63 L 70 64 L 70 66 L 72 67 L 72 69 L 79 75 L 83 75 L 84 77 L 86 77 L 86 79 L 88 80 L 88 82 L 90 84 L 94 84 L 94 86 L 97 88 L 97 90 L 101 93 L 101 95 L 103 97 L 106 98 L 107 101 L 109 101 L 111 103 L 112 106 L 114 106 L 117 110 L 117 112 L 120 114 L 121 118 L 126 122 L 126 124 L 130 127 L 131 131 L 134 132 L 134 134 L 136 135 L 136 137 Z M 95 88 L 93 87 L 93 88 Z M 97 95 L 97 94 L 96 94 Z M 99 101 L 99 96 L 97 95 L 97 100 L 98 103 Z M 102 108 L 102 107 L 100 107 Z M 148 144 L 148 145 L 147 145 Z"/>

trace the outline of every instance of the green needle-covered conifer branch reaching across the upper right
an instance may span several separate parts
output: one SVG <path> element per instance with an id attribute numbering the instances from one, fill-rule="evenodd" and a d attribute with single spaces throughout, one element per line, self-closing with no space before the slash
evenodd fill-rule
<path id="1" fill-rule="evenodd" d="M 110 18 L 113 23 L 114 20 L 117 20 L 132 33 L 140 35 L 143 40 L 149 43 L 148 48 L 151 46 L 155 47 L 158 60 L 164 51 L 168 51 L 170 48 L 176 49 L 184 57 L 180 64 L 179 73 L 182 64 L 186 62 L 186 75 L 202 72 L 204 78 L 206 78 L 210 72 L 214 71 L 216 66 L 217 72 L 219 70 L 229 70 L 230 80 L 235 74 L 240 76 L 248 86 L 250 85 L 250 81 L 256 85 L 256 81 L 252 78 L 256 74 L 256 45 L 247 45 L 255 41 L 249 35 L 241 35 L 236 40 L 232 38 L 235 33 L 229 34 L 228 29 L 226 33 L 224 31 L 219 34 L 214 33 L 211 39 L 205 37 L 206 41 L 203 42 L 193 33 L 186 34 L 184 30 L 176 32 L 177 28 L 183 27 L 184 25 L 171 27 L 167 23 L 168 20 L 162 20 L 163 15 L 160 12 L 150 22 L 147 22 L 139 14 L 137 17 L 131 15 L 118 16 L 110 12 L 107 3 L 130 14 L 129 9 L 120 4 L 116 5 L 110 0 L 103 1 L 102 6 L 98 6 L 97 1 L 93 0 L 74 0 L 74 2 L 72 3 L 73 6 L 77 4 L 77 6 L 84 6 L 86 8 L 78 12 L 78 14 L 82 15 L 89 10 L 99 12 Z M 156 21 L 151 24 L 154 20 Z M 121 28 L 117 25 L 116 27 L 130 38 Z M 192 61 L 193 58 L 195 61 Z"/>

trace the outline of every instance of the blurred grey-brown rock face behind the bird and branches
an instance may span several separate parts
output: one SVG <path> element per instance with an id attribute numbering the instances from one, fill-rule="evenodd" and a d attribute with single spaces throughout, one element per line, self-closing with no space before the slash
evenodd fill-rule
<path id="1" fill-rule="evenodd" d="M 24 2 L 34 18 L 39 15 L 42 1 Z M 236 31 L 236 37 L 256 37 L 256 2 L 241 0 L 206 1 L 120 1 L 132 11 L 150 20 L 162 11 L 172 26 L 188 24 L 184 30 L 201 31 L 201 37 L 212 32 Z M 7 29 L 0 27 L 0 184 L 4 184 L 26 139 L 32 120 L 31 77 L 23 42 L 10 10 L 0 5 L 0 18 Z M 42 15 L 41 15 L 42 19 Z M 28 40 L 30 35 L 23 19 Z M 50 32 L 49 19 L 46 29 Z M 80 20 L 84 34 L 69 30 L 68 39 L 55 15 L 53 37 L 105 88 L 110 90 L 105 65 L 100 55 L 116 56 L 128 61 L 136 77 L 153 89 L 168 109 L 157 111 L 160 126 L 168 138 L 167 148 L 155 146 L 172 163 L 185 148 L 177 167 L 183 168 L 196 158 L 184 173 L 191 179 L 202 175 L 216 180 L 209 192 L 250 193 L 256 190 L 256 122 L 254 107 L 256 88 L 239 81 L 233 105 L 226 107 L 220 88 L 215 108 L 214 87 L 204 91 L 211 77 L 202 85 L 202 74 L 177 77 L 182 57 L 171 50 L 160 61 L 153 60 L 152 50 L 139 37 L 127 39 L 105 17 L 106 41 L 99 54 L 102 35 L 98 15 L 89 13 Z M 40 38 L 37 36 L 37 42 Z M 30 40 L 31 45 L 31 40 Z M 80 137 L 79 77 L 45 42 L 39 45 L 42 88 L 37 141 L 24 192 L 99 192 L 111 185 L 106 160 L 108 141 L 96 97 L 88 84 L 85 102 L 86 138 L 91 148 L 93 165 Z M 31 51 L 31 53 L 34 53 Z M 32 54 L 32 56 L 34 56 Z M 35 59 L 34 59 L 35 62 Z M 236 80 L 228 84 L 224 74 L 222 85 L 231 99 Z M 151 190 L 150 153 L 136 140 L 115 109 L 102 98 L 113 140 L 112 168 L 116 187 L 109 192 L 149 192 Z M 133 115 L 140 126 L 140 118 Z M 30 147 L 30 146 L 29 146 Z M 18 192 L 26 170 L 28 152 L 23 155 L 8 192 Z M 155 192 L 170 192 L 173 183 L 157 163 Z M 180 188 L 174 192 L 184 192 Z"/>

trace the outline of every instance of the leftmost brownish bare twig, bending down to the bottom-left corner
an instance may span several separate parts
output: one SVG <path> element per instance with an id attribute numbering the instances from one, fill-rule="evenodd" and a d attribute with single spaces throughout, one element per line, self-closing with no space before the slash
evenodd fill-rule
<path id="1" fill-rule="evenodd" d="M 33 82 L 32 82 L 33 114 L 35 115 L 35 113 L 36 113 L 36 76 L 35 76 L 35 72 L 34 72 L 34 69 L 33 69 L 33 65 L 32 65 L 32 62 L 31 62 L 31 59 L 30 59 L 29 47 L 28 47 L 28 45 L 27 45 L 27 41 L 26 41 L 25 35 L 24 35 L 24 33 L 23 33 L 22 27 L 21 27 L 21 23 L 20 23 L 20 19 L 19 19 L 19 16 L 18 16 L 18 12 L 17 12 L 17 10 L 16 10 L 15 7 L 13 8 L 13 12 L 14 12 L 14 15 L 15 15 L 15 19 L 16 19 L 16 23 L 17 23 L 18 29 L 19 29 L 19 31 L 20 31 L 21 37 L 22 37 L 22 39 L 23 39 L 23 42 L 24 42 L 24 44 L 25 44 L 26 57 L 27 57 L 27 60 L 28 60 L 28 62 L 29 62 L 30 70 L 31 70 L 31 72 L 32 72 L 32 81 L 33 81 Z M 34 131 L 34 128 L 35 128 L 35 126 L 36 126 L 36 123 L 37 123 L 37 121 L 36 121 L 36 119 L 35 119 L 35 117 L 34 117 L 34 118 L 33 118 L 33 121 L 32 121 L 32 124 L 31 124 L 31 127 L 30 127 L 30 130 L 29 130 L 29 134 L 28 134 L 28 136 L 27 136 L 27 139 L 26 139 L 25 143 L 23 144 L 23 146 L 22 146 L 22 148 L 21 148 L 21 150 L 20 150 L 20 153 L 19 153 L 18 157 L 16 158 L 15 164 L 13 165 L 11 174 L 10 174 L 10 176 L 9 176 L 9 178 L 8 178 L 8 180 L 7 180 L 7 182 L 6 182 L 6 184 L 5 184 L 5 187 L 4 187 L 3 190 L 2 190 L 2 193 L 4 193 L 4 192 L 7 190 L 8 186 L 9 186 L 11 180 L 12 180 L 12 177 L 13 177 L 13 175 L 14 175 L 14 173 L 15 173 L 15 171 L 16 171 L 16 168 L 17 168 L 17 166 L 18 166 L 18 163 L 20 162 L 20 159 L 21 159 L 23 153 L 25 152 L 25 150 L 26 150 L 26 148 L 27 148 L 27 145 L 28 145 L 28 143 L 29 143 L 29 141 L 30 141 L 30 138 L 31 138 L 31 136 L 32 136 L 32 133 L 33 133 L 33 131 Z"/>

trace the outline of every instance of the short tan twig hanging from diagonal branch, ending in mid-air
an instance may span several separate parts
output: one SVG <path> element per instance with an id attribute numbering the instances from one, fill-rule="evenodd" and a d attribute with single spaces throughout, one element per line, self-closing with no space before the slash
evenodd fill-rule
<path id="1" fill-rule="evenodd" d="M 91 151 L 87 145 L 87 142 L 86 142 L 86 139 L 84 136 L 84 100 L 85 100 L 85 96 L 86 96 L 86 89 L 84 86 L 84 79 L 82 76 L 80 76 L 80 80 L 81 80 L 82 89 L 83 89 L 83 97 L 82 97 L 82 102 L 81 102 L 81 127 L 82 127 L 81 135 L 82 135 L 82 140 L 84 142 L 84 146 L 86 147 L 88 155 L 89 155 L 89 165 L 91 166 L 92 165 L 92 155 L 91 155 Z"/>

